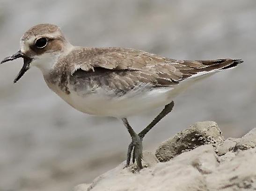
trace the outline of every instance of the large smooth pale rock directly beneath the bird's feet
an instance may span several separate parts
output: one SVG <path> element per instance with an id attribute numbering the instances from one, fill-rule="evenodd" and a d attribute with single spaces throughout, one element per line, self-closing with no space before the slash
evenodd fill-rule
<path id="1" fill-rule="evenodd" d="M 211 173 L 218 166 L 211 145 L 202 145 L 136 174 L 131 172 L 131 167 L 124 169 L 124 164 L 97 177 L 84 190 L 78 187 L 73 191 L 203 191 L 204 174 Z"/>

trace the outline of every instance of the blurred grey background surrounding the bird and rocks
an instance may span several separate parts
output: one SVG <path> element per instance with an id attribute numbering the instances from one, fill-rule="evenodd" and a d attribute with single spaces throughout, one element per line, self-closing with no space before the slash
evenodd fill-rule
<path id="1" fill-rule="evenodd" d="M 197 121 L 216 121 L 226 137 L 256 127 L 255 0 L 0 0 L 0 60 L 38 23 L 59 25 L 74 45 L 245 61 L 177 97 L 145 150 Z M 71 108 L 37 68 L 13 84 L 21 67 L 0 66 L 0 191 L 70 191 L 124 161 L 130 136 L 119 120 Z M 157 112 L 130 122 L 139 131 Z"/>

